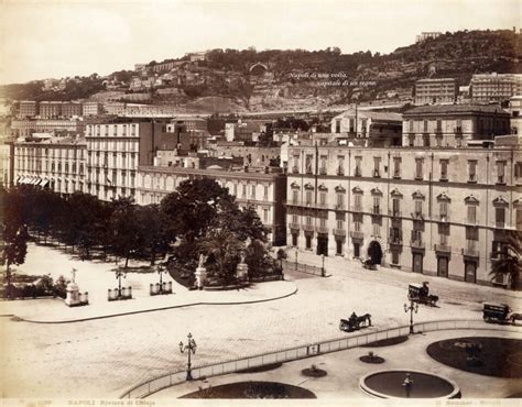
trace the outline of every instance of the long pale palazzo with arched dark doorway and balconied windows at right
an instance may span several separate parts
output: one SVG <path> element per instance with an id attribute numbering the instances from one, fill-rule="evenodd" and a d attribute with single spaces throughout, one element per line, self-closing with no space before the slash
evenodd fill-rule
<path id="1" fill-rule="evenodd" d="M 289 155 L 289 243 L 303 250 L 488 284 L 507 230 L 522 231 L 521 145 Z"/>

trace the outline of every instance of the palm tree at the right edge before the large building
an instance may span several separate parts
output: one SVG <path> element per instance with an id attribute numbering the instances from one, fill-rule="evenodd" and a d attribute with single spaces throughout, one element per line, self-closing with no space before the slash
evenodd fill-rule
<path id="1" fill-rule="evenodd" d="M 520 273 L 522 271 L 522 263 L 520 261 L 521 251 L 520 232 L 508 234 L 507 242 L 502 245 L 502 250 L 493 253 L 497 260 L 491 265 L 491 280 L 508 276 L 508 284 L 511 289 L 516 289 L 519 286 Z"/>

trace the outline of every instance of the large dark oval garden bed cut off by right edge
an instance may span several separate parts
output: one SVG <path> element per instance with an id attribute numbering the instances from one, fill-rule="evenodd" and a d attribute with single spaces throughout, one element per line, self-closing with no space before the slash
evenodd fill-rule
<path id="1" fill-rule="evenodd" d="M 427 346 L 437 362 L 465 372 L 494 377 L 522 377 L 522 341 L 508 338 L 467 337 Z"/>

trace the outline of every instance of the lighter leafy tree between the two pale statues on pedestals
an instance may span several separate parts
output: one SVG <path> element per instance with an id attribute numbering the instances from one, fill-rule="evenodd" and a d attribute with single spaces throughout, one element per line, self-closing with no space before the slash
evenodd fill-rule
<path id="1" fill-rule="evenodd" d="M 236 272 L 239 254 L 244 249 L 244 243 L 228 229 L 213 229 L 199 243 L 199 250 L 211 256 L 217 266 L 219 278 L 229 282 Z"/>

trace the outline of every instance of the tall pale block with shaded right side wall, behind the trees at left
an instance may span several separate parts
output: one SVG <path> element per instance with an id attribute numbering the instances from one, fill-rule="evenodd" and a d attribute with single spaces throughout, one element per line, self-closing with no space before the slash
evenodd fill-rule
<path id="1" fill-rule="evenodd" d="M 152 165 L 155 151 L 172 144 L 166 123 L 156 120 L 113 119 L 89 123 L 87 193 L 102 200 L 135 195 L 139 165 Z"/>

